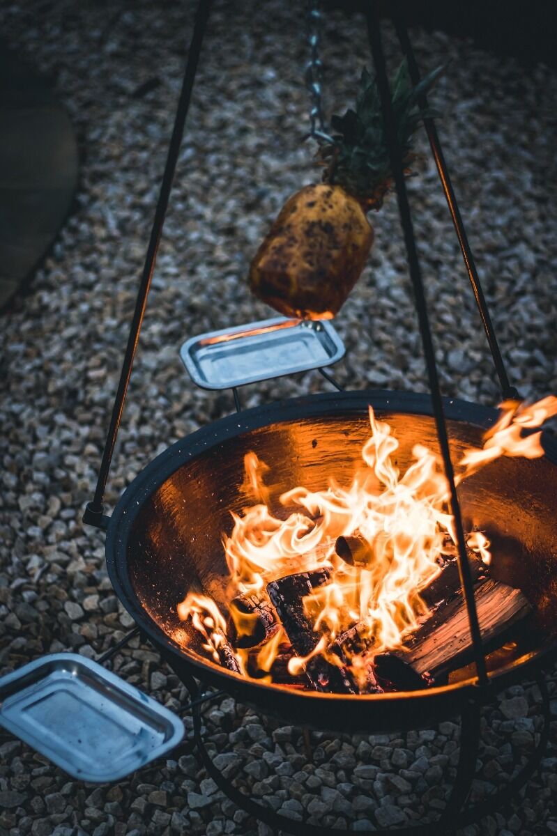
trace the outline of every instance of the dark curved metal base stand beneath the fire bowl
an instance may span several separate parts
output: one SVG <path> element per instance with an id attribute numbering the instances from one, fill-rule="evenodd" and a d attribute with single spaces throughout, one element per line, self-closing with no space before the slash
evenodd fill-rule
<path id="1" fill-rule="evenodd" d="M 173 670 L 176 671 L 176 674 L 184 681 L 191 696 L 193 743 L 197 747 L 197 752 L 199 752 L 207 773 L 212 777 L 217 787 L 227 795 L 227 798 L 230 798 L 238 808 L 241 808 L 248 815 L 268 824 L 275 832 L 280 830 L 284 833 L 293 833 L 294 836 L 308 836 L 308 834 L 309 836 L 338 836 L 339 833 L 345 832 L 339 828 L 325 828 L 318 824 L 296 822 L 291 818 L 286 818 L 279 813 L 274 813 L 270 808 L 263 807 L 262 804 L 253 801 L 247 795 L 240 792 L 238 788 L 234 787 L 233 782 L 224 777 L 222 772 L 217 769 L 214 764 L 214 759 L 207 751 L 207 747 L 203 741 L 201 702 L 199 701 L 200 688 L 197 686 L 197 682 L 187 672 L 185 673 L 183 669 L 181 670 L 178 665 L 175 666 L 172 660 L 169 659 L 168 662 Z M 538 671 L 535 681 L 542 698 L 541 707 L 544 726 L 541 732 L 539 732 L 539 742 L 534 748 L 534 752 L 532 752 L 529 761 L 517 775 L 511 778 L 503 789 L 498 790 L 497 793 L 493 793 L 482 803 L 476 804 L 471 808 L 462 809 L 470 793 L 476 772 L 476 759 L 480 740 L 480 709 L 485 705 L 485 699 L 478 694 L 478 699 L 470 699 L 466 706 L 462 707 L 460 739 L 463 745 L 460 747 L 457 775 L 452 785 L 447 807 L 437 822 L 416 824 L 404 828 L 377 828 L 376 830 L 370 831 L 370 833 L 376 833 L 377 836 L 392 836 L 392 833 L 400 834 L 400 836 L 432 836 L 432 834 L 436 833 L 452 832 L 455 828 L 455 823 L 457 823 L 457 827 L 459 828 L 468 824 L 477 823 L 484 816 L 496 813 L 504 803 L 514 798 L 516 793 L 519 793 L 524 788 L 530 778 L 533 777 L 534 772 L 539 768 L 539 764 L 544 757 L 549 742 L 551 722 L 549 692 L 541 670 Z"/>

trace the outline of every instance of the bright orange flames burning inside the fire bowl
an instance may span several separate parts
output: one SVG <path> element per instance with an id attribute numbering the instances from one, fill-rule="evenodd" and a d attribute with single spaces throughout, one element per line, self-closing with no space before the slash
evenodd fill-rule
<path id="1" fill-rule="evenodd" d="M 544 455 L 541 432 L 533 430 L 557 415 L 557 398 L 534 405 L 507 401 L 502 409 L 484 436 L 483 448 L 467 451 L 458 463 L 457 482 L 498 456 Z M 223 538 L 231 599 L 251 594 L 268 603 L 266 588 L 271 581 L 324 567 L 332 570 L 330 582 L 304 597 L 304 613 L 319 640 L 316 636 L 308 655 L 290 658 L 288 669 L 293 675 L 315 655 L 339 666 L 339 656 L 330 649 L 332 642 L 354 624 L 367 636 L 373 655 L 400 646 L 427 615 L 421 590 L 440 573 L 447 554 L 454 553 L 448 486 L 439 456 L 416 444 L 413 461 L 401 474 L 393 461 L 399 445 L 391 426 L 378 420 L 371 407 L 369 418 L 370 438 L 351 485 L 342 487 L 331 479 L 324 491 L 294 487 L 279 497 L 290 511 L 286 519 L 273 516 L 268 508 L 264 485 L 268 467 L 253 452 L 245 456 L 243 491 L 254 504 L 242 514 L 233 513 L 233 532 Z M 490 562 L 490 544 L 482 532 L 470 533 L 467 545 L 484 563 Z M 217 604 L 206 595 L 191 593 L 177 609 L 181 619 L 192 619 L 205 639 L 204 649 L 218 661 L 218 650 L 227 641 L 227 624 Z M 238 635 L 253 630 L 253 617 L 234 618 Z M 285 638 L 281 628 L 254 649 L 258 671 L 267 674 L 267 680 Z M 248 651 L 233 652 L 240 670 L 247 673 Z M 358 680 L 365 658 L 355 655 L 348 661 Z"/>

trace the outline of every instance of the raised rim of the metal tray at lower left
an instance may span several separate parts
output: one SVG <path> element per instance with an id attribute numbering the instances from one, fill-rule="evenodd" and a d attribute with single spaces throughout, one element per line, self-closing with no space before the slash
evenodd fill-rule
<path id="1" fill-rule="evenodd" d="M 137 764 L 134 768 L 129 769 L 125 768 L 117 770 L 105 771 L 103 773 L 100 772 L 87 772 L 85 770 L 76 771 L 76 767 L 74 764 L 67 760 L 66 757 L 59 757 L 57 752 L 54 752 L 52 747 L 49 744 L 46 744 L 44 739 L 41 737 L 37 737 L 25 726 L 18 726 L 17 723 L 13 723 L 10 721 L 6 721 L 6 718 L 3 716 L 3 705 L 5 701 L 7 701 L 11 696 L 17 696 L 18 694 L 23 694 L 23 692 L 32 685 L 32 683 L 28 683 L 28 685 L 24 685 L 20 689 L 10 689 L 9 693 L 6 694 L 6 689 L 8 686 L 13 686 L 18 682 L 18 680 L 24 680 L 29 674 L 33 673 L 34 670 L 40 670 L 41 668 L 47 668 L 49 665 L 53 665 L 55 662 L 64 662 L 73 665 L 79 665 L 80 667 L 84 668 L 85 670 L 94 671 L 95 674 L 99 674 L 102 672 L 102 677 L 109 683 L 110 686 L 115 688 L 120 692 L 124 692 L 125 696 L 140 702 L 143 706 L 150 707 L 152 706 L 156 713 L 161 716 L 164 720 L 166 720 L 168 726 L 171 728 L 171 735 L 165 742 L 162 742 L 159 746 L 154 747 L 149 752 L 150 756 L 146 761 L 141 762 L 141 764 Z M 48 673 L 46 674 L 48 675 Z M 36 683 L 39 680 L 35 680 Z M 110 699 L 110 695 L 107 696 L 107 699 Z M 44 757 L 48 757 L 51 762 L 54 763 L 55 766 L 61 767 L 64 769 L 65 772 L 68 772 L 69 775 L 72 777 L 80 780 L 80 781 L 87 781 L 92 783 L 108 783 L 113 781 L 119 781 L 121 778 L 130 775 L 131 772 L 135 772 L 142 767 L 145 767 L 147 763 L 156 760 L 157 757 L 161 757 L 161 755 L 165 754 L 173 747 L 176 747 L 184 737 L 186 733 L 186 728 L 184 726 L 181 717 L 177 716 L 173 711 L 166 708 L 166 706 L 162 706 L 156 700 L 154 700 L 151 696 L 140 691 L 139 688 L 135 688 L 135 686 L 130 685 L 129 682 L 123 680 L 120 676 L 113 673 L 111 670 L 107 670 L 103 665 L 100 665 L 99 662 L 88 659 L 86 656 L 82 656 L 76 653 L 51 653 L 42 656 L 38 656 L 37 659 L 28 662 L 26 665 L 22 665 L 22 667 L 18 668 L 17 670 L 13 670 L 11 673 L 6 674 L 0 677 L 0 726 L 5 728 L 8 732 L 14 735 L 14 737 L 18 737 L 19 740 L 27 743 L 28 746 L 33 747 L 37 752 L 40 752 Z M 53 757 L 53 755 L 55 757 Z"/>

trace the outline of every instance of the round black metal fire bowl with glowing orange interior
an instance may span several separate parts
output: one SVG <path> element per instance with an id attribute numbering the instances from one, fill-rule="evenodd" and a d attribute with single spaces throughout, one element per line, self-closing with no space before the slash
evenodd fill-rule
<path id="1" fill-rule="evenodd" d="M 400 443 L 396 463 L 411 462 L 416 442 L 438 450 L 428 395 L 343 392 L 279 401 L 229 415 L 169 447 L 127 488 L 110 518 L 106 558 L 122 604 L 166 660 L 191 683 L 192 676 L 217 686 L 267 714 L 330 730 L 376 732 L 416 728 L 478 701 L 473 680 L 427 691 L 370 696 L 300 692 L 264 685 L 207 660 L 197 631 L 181 622 L 176 604 L 192 582 L 222 589 L 227 567 L 222 533 L 231 511 L 249 504 L 243 493 L 243 456 L 250 450 L 270 466 L 270 506 L 295 485 L 327 487 L 330 477 L 348 483 L 370 434 L 367 406 L 391 424 Z M 452 458 L 481 446 L 496 410 L 446 400 Z M 535 610 L 534 629 L 524 631 L 519 658 L 490 673 L 479 701 L 523 679 L 554 655 L 557 625 L 557 444 L 544 436 L 539 459 L 502 457 L 462 482 L 465 527 L 492 538 L 492 573 L 522 589 Z M 173 638 L 186 631 L 187 642 Z M 183 635 L 183 634 L 182 634 Z"/>

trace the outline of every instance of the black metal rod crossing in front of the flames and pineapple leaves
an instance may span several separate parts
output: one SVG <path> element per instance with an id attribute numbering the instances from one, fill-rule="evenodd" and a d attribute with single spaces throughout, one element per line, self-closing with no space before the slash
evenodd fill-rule
<path id="1" fill-rule="evenodd" d="M 462 515 L 458 502 L 457 487 L 454 482 L 454 471 L 452 468 L 451 451 L 448 442 L 447 423 L 445 421 L 441 389 L 437 375 L 437 364 L 435 361 L 435 352 L 432 343 L 432 332 L 429 325 L 429 316 L 427 314 L 426 294 L 416 250 L 416 240 L 414 238 L 414 230 L 412 226 L 410 203 L 406 193 L 401 148 L 396 133 L 395 115 L 391 105 L 391 89 L 387 78 L 385 56 L 383 54 L 383 45 L 381 42 L 381 29 L 375 0 L 371 0 L 368 4 L 365 10 L 365 19 L 367 22 L 368 37 L 370 39 L 371 54 L 373 56 L 373 63 L 376 69 L 377 87 L 381 97 L 381 110 L 385 126 L 385 140 L 389 151 L 391 169 L 396 185 L 396 196 L 398 199 L 401 226 L 404 232 L 404 242 L 406 245 L 406 257 L 408 260 L 412 287 L 414 288 L 414 298 L 418 321 L 420 324 L 420 332 L 422 334 L 423 351 L 427 364 L 429 388 L 432 394 L 433 414 L 435 415 L 437 437 L 439 439 L 439 446 L 441 447 L 445 476 L 447 477 L 449 487 L 450 509 L 454 520 L 454 528 L 457 538 L 458 571 L 460 573 L 464 599 L 466 601 L 466 608 L 468 612 L 468 622 L 473 642 L 474 660 L 476 662 L 476 670 L 478 672 L 478 683 L 485 686 L 488 683 L 488 673 L 483 654 L 482 635 L 478 622 L 478 610 L 476 609 L 472 573 L 470 572 L 470 565 L 468 563 L 468 556 L 466 553 L 464 528 L 462 526 Z"/>

